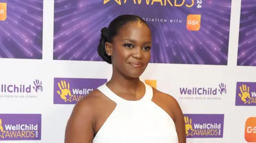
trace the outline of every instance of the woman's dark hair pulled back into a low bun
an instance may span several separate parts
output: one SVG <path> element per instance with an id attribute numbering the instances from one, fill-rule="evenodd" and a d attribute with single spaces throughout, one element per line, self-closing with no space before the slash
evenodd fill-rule
<path id="1" fill-rule="evenodd" d="M 122 28 L 128 22 L 140 21 L 148 24 L 139 16 L 132 14 L 120 15 L 110 22 L 108 28 L 104 27 L 101 29 L 101 38 L 98 46 L 98 54 L 99 56 L 109 64 L 112 64 L 111 56 L 106 53 L 105 44 L 106 42 L 111 43 L 113 38 L 118 34 L 118 30 Z"/>

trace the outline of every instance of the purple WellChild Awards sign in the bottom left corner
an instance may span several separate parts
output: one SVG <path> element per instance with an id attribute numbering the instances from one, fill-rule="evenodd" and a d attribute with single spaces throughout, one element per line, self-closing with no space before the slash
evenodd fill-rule
<path id="1" fill-rule="evenodd" d="M 41 114 L 0 114 L 1 140 L 41 140 Z"/>

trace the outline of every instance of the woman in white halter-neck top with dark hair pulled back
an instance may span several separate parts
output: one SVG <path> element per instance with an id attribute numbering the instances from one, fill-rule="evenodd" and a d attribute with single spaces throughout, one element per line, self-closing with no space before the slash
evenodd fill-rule
<path id="1" fill-rule="evenodd" d="M 65 143 L 186 143 L 177 101 L 139 79 L 150 49 L 151 32 L 139 16 L 118 16 L 101 30 L 98 53 L 113 75 L 75 105 Z"/>

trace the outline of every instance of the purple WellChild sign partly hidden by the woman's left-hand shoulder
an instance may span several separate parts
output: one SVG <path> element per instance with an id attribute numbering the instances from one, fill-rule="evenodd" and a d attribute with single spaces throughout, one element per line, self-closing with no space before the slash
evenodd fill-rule
<path id="1" fill-rule="evenodd" d="M 54 104 L 76 104 L 107 79 L 54 78 Z"/>

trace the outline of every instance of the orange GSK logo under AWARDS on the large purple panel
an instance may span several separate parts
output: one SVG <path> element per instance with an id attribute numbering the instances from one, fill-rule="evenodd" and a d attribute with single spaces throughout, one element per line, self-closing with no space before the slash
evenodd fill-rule
<path id="1" fill-rule="evenodd" d="M 187 29 L 189 31 L 198 31 L 201 27 L 201 15 L 189 14 L 187 17 Z"/>

